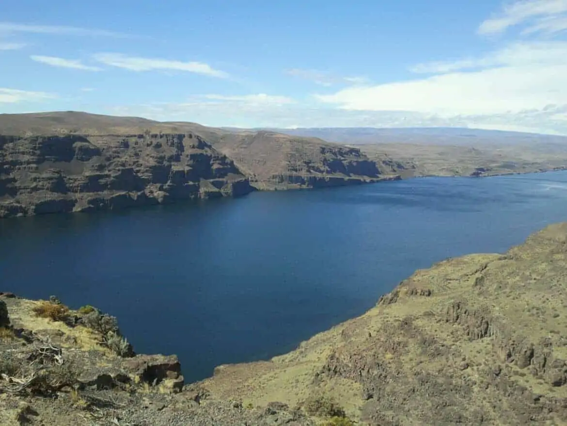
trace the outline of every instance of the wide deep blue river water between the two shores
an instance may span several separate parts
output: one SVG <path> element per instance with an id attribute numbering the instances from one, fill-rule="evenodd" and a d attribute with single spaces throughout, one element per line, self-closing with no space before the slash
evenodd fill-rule
<path id="1" fill-rule="evenodd" d="M 0 220 L 0 290 L 119 318 L 185 378 L 287 352 L 417 268 L 567 220 L 567 172 L 422 178 Z"/>

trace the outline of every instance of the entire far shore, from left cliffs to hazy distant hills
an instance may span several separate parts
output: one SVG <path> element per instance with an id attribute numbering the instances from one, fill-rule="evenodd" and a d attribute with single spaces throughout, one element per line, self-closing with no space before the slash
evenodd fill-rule
<path id="1" fill-rule="evenodd" d="M 564 168 L 567 137 L 530 133 L 246 130 L 75 111 L 0 114 L 0 217 Z"/>

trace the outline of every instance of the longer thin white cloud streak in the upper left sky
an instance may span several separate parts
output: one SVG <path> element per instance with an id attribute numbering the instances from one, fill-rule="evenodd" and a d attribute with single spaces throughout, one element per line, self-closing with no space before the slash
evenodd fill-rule
<path id="1" fill-rule="evenodd" d="M 229 77 L 229 74 L 211 68 L 210 65 L 202 62 L 182 62 L 167 59 L 144 58 L 123 55 L 122 53 L 96 53 L 93 57 L 96 61 L 105 65 L 129 69 L 131 71 L 175 70 L 203 74 L 209 77 Z"/>

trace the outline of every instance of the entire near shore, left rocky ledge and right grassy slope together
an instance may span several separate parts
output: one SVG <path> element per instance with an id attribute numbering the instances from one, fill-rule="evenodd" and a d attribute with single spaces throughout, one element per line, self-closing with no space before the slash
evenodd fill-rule
<path id="1" fill-rule="evenodd" d="M 77 370 L 71 384 L 38 382 L 50 399 L 4 378 L 0 424 L 564 424 L 566 267 L 567 223 L 552 225 L 505 254 L 418 270 L 293 352 L 191 385 L 174 356 L 109 344 L 84 310 L 50 321 L 35 314 L 41 302 L 5 295 L 14 336 L 3 334 L 0 370 L 41 358 L 55 373 L 47 345 Z"/>

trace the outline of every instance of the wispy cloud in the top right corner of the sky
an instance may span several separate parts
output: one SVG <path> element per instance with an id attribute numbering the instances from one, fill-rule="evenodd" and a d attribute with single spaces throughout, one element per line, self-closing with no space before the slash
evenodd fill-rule
<path id="1" fill-rule="evenodd" d="M 524 34 L 567 30 L 567 0 L 519 0 L 480 24 L 479 34 L 500 34 L 508 28 L 527 24 Z"/>

